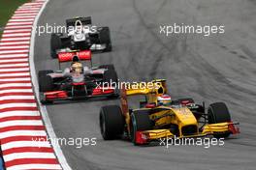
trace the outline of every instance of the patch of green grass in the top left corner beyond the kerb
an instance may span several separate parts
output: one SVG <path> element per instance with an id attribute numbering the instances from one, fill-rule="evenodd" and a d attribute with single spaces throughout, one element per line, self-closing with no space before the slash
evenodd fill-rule
<path id="1" fill-rule="evenodd" d="M 2 28 L 15 13 L 16 8 L 26 2 L 28 0 L 0 0 L 0 39 L 3 32 Z"/>

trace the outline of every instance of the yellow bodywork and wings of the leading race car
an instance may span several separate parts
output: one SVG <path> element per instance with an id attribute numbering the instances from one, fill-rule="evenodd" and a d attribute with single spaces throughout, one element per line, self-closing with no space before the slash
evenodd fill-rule
<path id="1" fill-rule="evenodd" d="M 152 86 L 151 88 L 146 88 L 143 85 L 137 84 L 137 89 L 122 89 L 121 91 L 121 106 L 122 106 L 122 113 L 125 117 L 126 125 L 128 132 L 130 133 L 130 114 L 128 109 L 127 97 L 129 96 L 136 96 L 136 95 L 144 95 L 148 103 L 155 103 L 157 105 L 157 97 L 163 94 L 167 94 L 166 88 L 166 80 L 158 79 L 151 81 Z M 150 110 L 153 111 L 149 115 L 151 120 L 154 120 L 154 128 L 150 130 L 144 130 L 144 133 L 149 140 L 155 140 L 164 137 L 172 137 L 175 134 L 171 132 L 171 129 L 161 129 L 165 125 L 176 125 L 178 127 L 178 137 L 196 137 L 196 136 L 204 136 L 208 134 L 214 134 L 219 132 L 227 132 L 229 131 L 229 125 L 232 123 L 220 123 L 220 124 L 210 124 L 205 125 L 203 131 L 199 131 L 199 123 L 195 118 L 194 114 L 191 112 L 189 108 L 186 106 L 180 107 L 172 107 L 172 106 L 156 106 L 153 108 L 140 108 L 134 109 L 133 111 L 137 110 Z M 154 112 L 154 110 L 156 110 Z M 193 134 L 182 134 L 182 128 L 186 126 L 194 126 L 196 131 Z"/>

